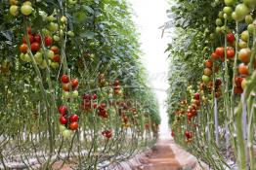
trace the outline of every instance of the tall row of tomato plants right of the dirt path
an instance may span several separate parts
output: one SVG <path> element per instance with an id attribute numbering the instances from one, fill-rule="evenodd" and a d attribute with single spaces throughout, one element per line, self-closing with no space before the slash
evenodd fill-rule
<path id="1" fill-rule="evenodd" d="M 200 2 L 177 3 L 186 9 Z M 188 63 L 185 68 L 199 71 L 192 73 L 189 81 L 177 81 L 185 84 L 184 88 L 188 85 L 186 92 L 175 87 L 169 89 L 172 136 L 213 169 L 255 169 L 256 2 L 225 0 L 199 6 L 205 8 L 202 20 L 177 13 L 179 5 L 173 8 L 176 21 L 180 18 L 197 21 L 192 25 L 176 25 L 176 29 L 193 29 L 197 33 L 192 42 L 178 40 L 176 46 L 190 44 L 187 53 L 193 54 L 195 65 Z M 211 15 L 207 14 L 210 9 Z M 199 13 L 198 9 L 192 12 Z M 196 24 L 198 28 L 194 27 Z M 173 45 L 168 50 L 171 57 L 182 60 L 186 56 Z M 173 63 L 170 69 L 181 75 Z"/>

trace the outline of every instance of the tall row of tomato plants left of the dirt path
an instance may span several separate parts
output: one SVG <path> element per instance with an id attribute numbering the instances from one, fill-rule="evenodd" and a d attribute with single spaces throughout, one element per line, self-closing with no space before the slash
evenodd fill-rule
<path id="1" fill-rule="evenodd" d="M 0 7 L 2 168 L 107 168 L 154 142 L 157 103 L 125 1 Z"/>

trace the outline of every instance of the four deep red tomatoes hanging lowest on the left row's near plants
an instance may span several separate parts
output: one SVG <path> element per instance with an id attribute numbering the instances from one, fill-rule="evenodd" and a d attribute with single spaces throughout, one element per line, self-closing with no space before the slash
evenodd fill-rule
<path id="1" fill-rule="evenodd" d="M 70 115 L 68 113 L 67 107 L 62 105 L 59 107 L 60 123 L 63 124 L 67 129 L 76 130 L 78 128 L 79 117 L 75 114 Z"/>

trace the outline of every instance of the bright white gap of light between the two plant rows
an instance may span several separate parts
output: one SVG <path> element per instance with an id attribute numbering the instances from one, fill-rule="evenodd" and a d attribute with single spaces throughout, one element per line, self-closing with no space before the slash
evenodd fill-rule
<path id="1" fill-rule="evenodd" d="M 159 27 L 165 21 L 168 4 L 165 0 L 129 0 L 129 2 L 135 11 L 134 21 L 141 33 L 142 51 L 145 53 L 143 63 L 148 70 L 150 84 L 160 103 L 162 119 L 160 131 L 166 134 L 168 118 L 164 105 L 167 93 L 163 90 L 168 88 L 167 53 L 164 53 L 168 41 L 161 38 L 162 32 Z"/>

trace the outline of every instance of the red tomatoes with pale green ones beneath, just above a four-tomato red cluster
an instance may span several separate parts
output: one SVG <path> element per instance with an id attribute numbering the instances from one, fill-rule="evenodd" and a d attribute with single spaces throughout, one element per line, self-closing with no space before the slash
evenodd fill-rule
<path id="1" fill-rule="evenodd" d="M 62 83 L 63 83 L 63 90 L 64 90 L 64 97 L 69 98 L 70 94 L 69 92 L 72 91 L 72 96 L 77 97 L 78 96 L 78 80 L 77 79 L 69 79 L 67 75 L 62 76 Z"/>

